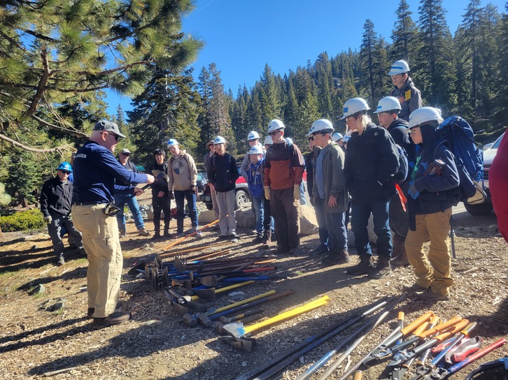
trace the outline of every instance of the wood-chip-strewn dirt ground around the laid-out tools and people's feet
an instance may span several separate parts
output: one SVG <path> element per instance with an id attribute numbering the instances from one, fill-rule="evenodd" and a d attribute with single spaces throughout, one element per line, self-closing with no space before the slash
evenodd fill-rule
<path id="1" fill-rule="evenodd" d="M 185 221 L 189 223 L 188 219 Z M 151 222 L 146 222 L 153 230 Z M 86 318 L 87 261 L 77 252 L 68 251 L 62 267 L 53 265 L 49 236 L 36 233 L 4 233 L 0 245 L 0 360 L 1 379 L 37 379 L 47 372 L 64 370 L 55 379 L 236 379 L 269 363 L 283 351 L 354 314 L 384 295 L 403 294 L 402 284 L 414 282 L 410 267 L 396 268 L 391 277 L 369 280 L 346 275 L 344 265 L 323 267 L 320 257 L 310 257 L 318 244 L 317 235 L 302 238 L 294 256 L 275 256 L 254 242 L 253 231 L 239 228 L 241 240 L 228 247 L 227 257 L 275 258 L 276 272 L 287 279 L 256 282 L 237 289 L 248 298 L 269 290 L 295 291 L 275 302 L 263 305 L 264 319 L 303 305 L 322 295 L 330 302 L 318 309 L 297 316 L 255 334 L 257 346 L 250 353 L 237 351 L 218 339 L 214 328 L 190 328 L 181 322 L 162 291 L 155 291 L 147 279 L 129 275 L 135 263 L 151 260 L 163 252 L 171 240 L 150 239 L 136 235 L 132 222 L 127 224 L 127 238 L 121 240 L 125 257 L 119 309 L 132 312 L 132 321 L 104 330 L 94 331 Z M 171 221 L 170 232 L 176 230 Z M 203 247 L 216 242 L 217 231 L 204 232 L 203 239 L 188 238 L 176 247 Z M 213 249 L 205 249 L 211 252 Z M 354 252 L 354 249 L 351 249 Z M 355 349 L 351 357 L 330 379 L 338 379 L 344 366 L 353 365 L 388 335 L 396 324 L 397 312 L 406 314 L 406 323 L 432 310 L 444 319 L 463 316 L 477 321 L 472 335 L 484 337 L 484 346 L 508 337 L 508 244 L 500 237 L 495 216 L 464 217 L 456 222 L 456 252 L 453 259 L 452 298 L 449 302 L 404 300 L 388 318 Z M 190 255 L 199 254 L 197 251 Z M 357 256 L 352 256 L 351 263 Z M 169 262 L 170 259 L 164 259 Z M 132 272 L 132 271 L 131 271 Z M 34 288 L 43 285 L 42 295 Z M 216 301 L 205 302 L 209 309 L 232 302 L 231 293 L 218 295 Z M 56 305 L 58 302 L 63 303 Z M 360 325 L 321 344 L 274 379 L 295 379 L 325 353 Z M 508 355 L 508 344 L 489 353 L 450 379 L 463 379 L 485 363 Z M 315 374 L 317 379 L 334 361 Z M 364 371 L 363 379 L 381 379 L 388 361 Z M 409 377 L 407 377 L 409 379 Z"/>

